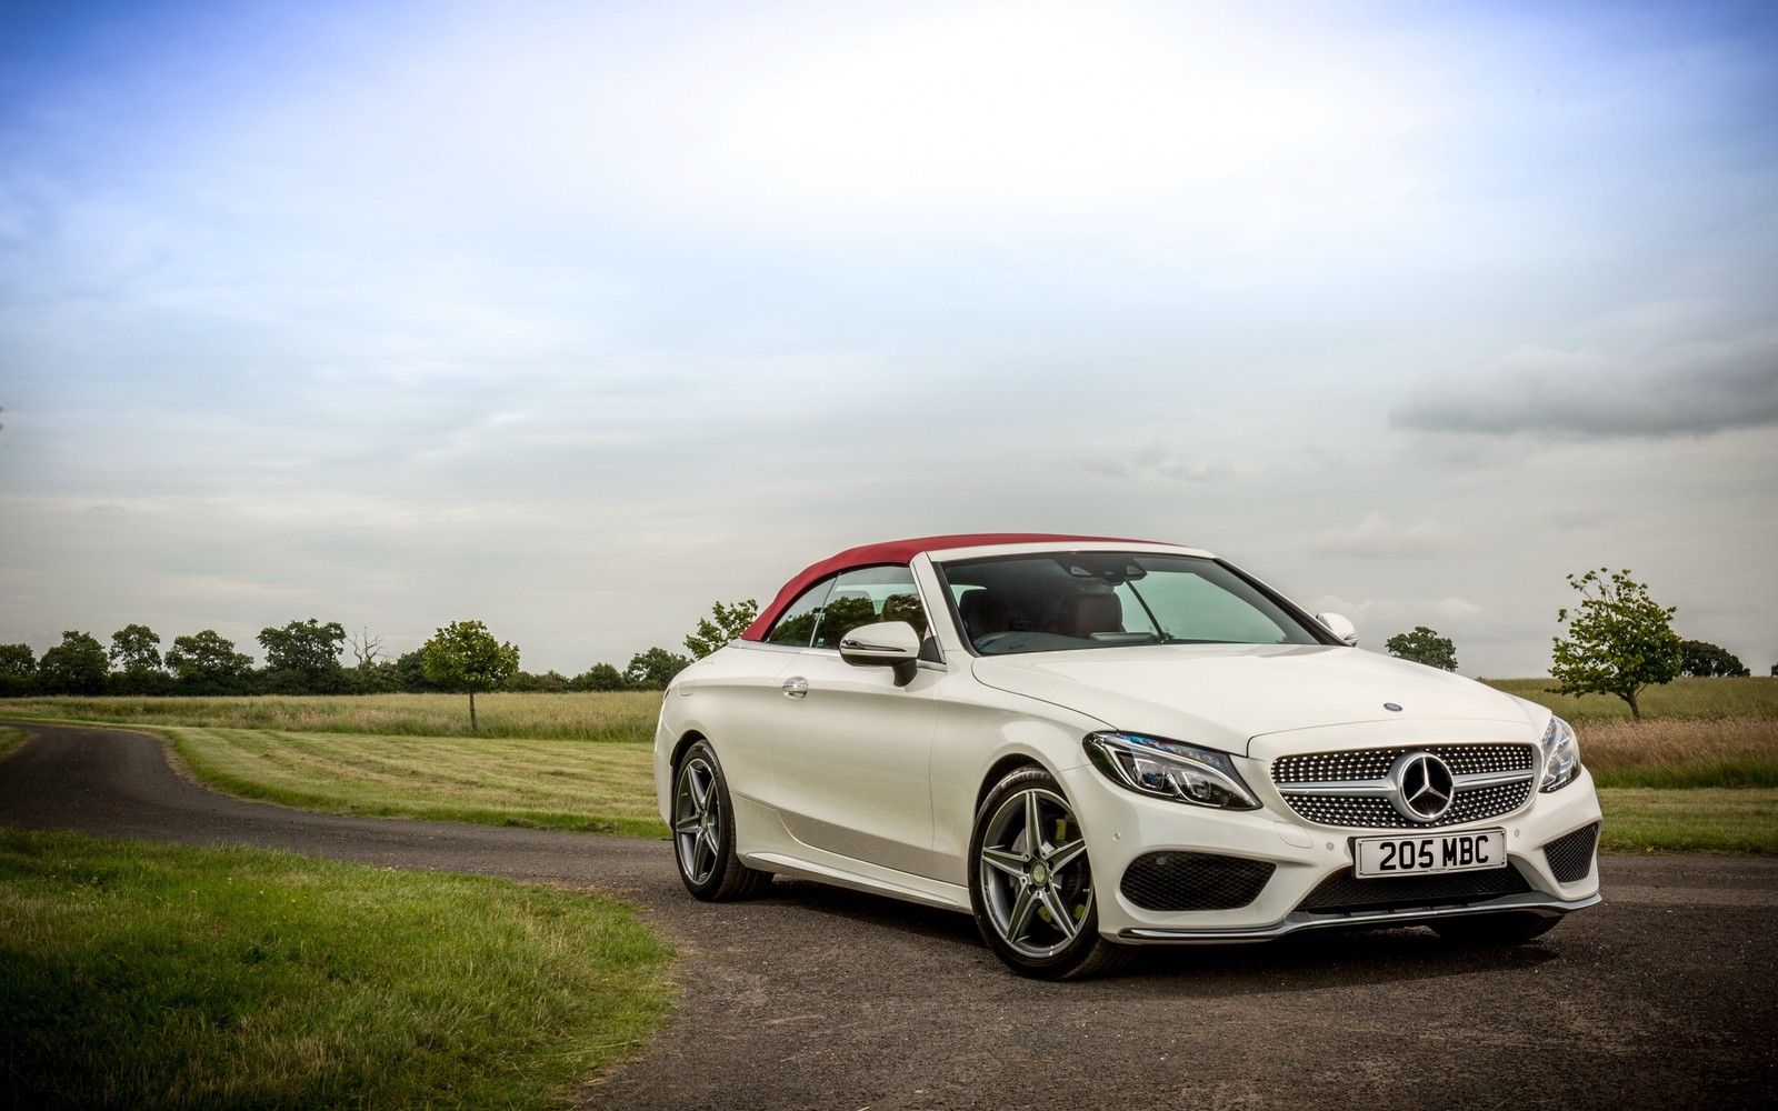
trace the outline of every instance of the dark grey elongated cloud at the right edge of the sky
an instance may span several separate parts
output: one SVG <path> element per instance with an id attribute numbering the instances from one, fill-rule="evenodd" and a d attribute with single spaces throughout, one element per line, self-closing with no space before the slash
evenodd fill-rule
<path id="1" fill-rule="evenodd" d="M 1422 380 L 1390 423 L 1419 432 L 1582 437 L 1778 425 L 1778 336 L 1682 343 L 1646 359 L 1520 348 L 1467 377 Z"/>

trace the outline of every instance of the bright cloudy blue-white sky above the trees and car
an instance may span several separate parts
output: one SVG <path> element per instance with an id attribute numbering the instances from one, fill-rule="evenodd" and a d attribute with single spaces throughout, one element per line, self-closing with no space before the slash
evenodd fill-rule
<path id="1" fill-rule="evenodd" d="M 1778 661 L 1778 9 L 0 7 L 0 643 L 567 675 L 955 532 Z"/>

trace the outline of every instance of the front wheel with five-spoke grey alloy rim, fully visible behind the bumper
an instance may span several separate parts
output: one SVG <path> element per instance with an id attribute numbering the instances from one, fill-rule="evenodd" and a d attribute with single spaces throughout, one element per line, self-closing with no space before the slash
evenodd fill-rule
<path id="1" fill-rule="evenodd" d="M 1086 837 L 1061 784 L 1042 768 L 1008 773 L 976 811 L 969 905 L 981 940 L 1021 976 L 1077 979 L 1133 956 L 1099 937 Z"/>

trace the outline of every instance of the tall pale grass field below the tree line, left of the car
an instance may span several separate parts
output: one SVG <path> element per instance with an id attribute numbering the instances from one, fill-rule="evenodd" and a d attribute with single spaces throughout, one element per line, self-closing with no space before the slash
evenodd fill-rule
<path id="1" fill-rule="evenodd" d="M 660 691 L 477 695 L 258 695 L 238 699 L 7 699 L 0 716 L 107 725 L 217 725 L 375 736 L 654 739 Z"/>

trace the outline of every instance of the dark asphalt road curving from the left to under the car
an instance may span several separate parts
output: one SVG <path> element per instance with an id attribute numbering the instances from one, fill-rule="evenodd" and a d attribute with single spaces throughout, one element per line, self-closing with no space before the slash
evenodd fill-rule
<path id="1" fill-rule="evenodd" d="M 0 823 L 594 885 L 676 940 L 685 995 L 590 1107 L 1769 1107 L 1778 860 L 1606 857 L 1536 942 L 1426 930 L 1006 972 L 967 917 L 779 880 L 709 907 L 663 841 L 308 814 L 204 791 L 146 734 L 27 725 Z"/>

